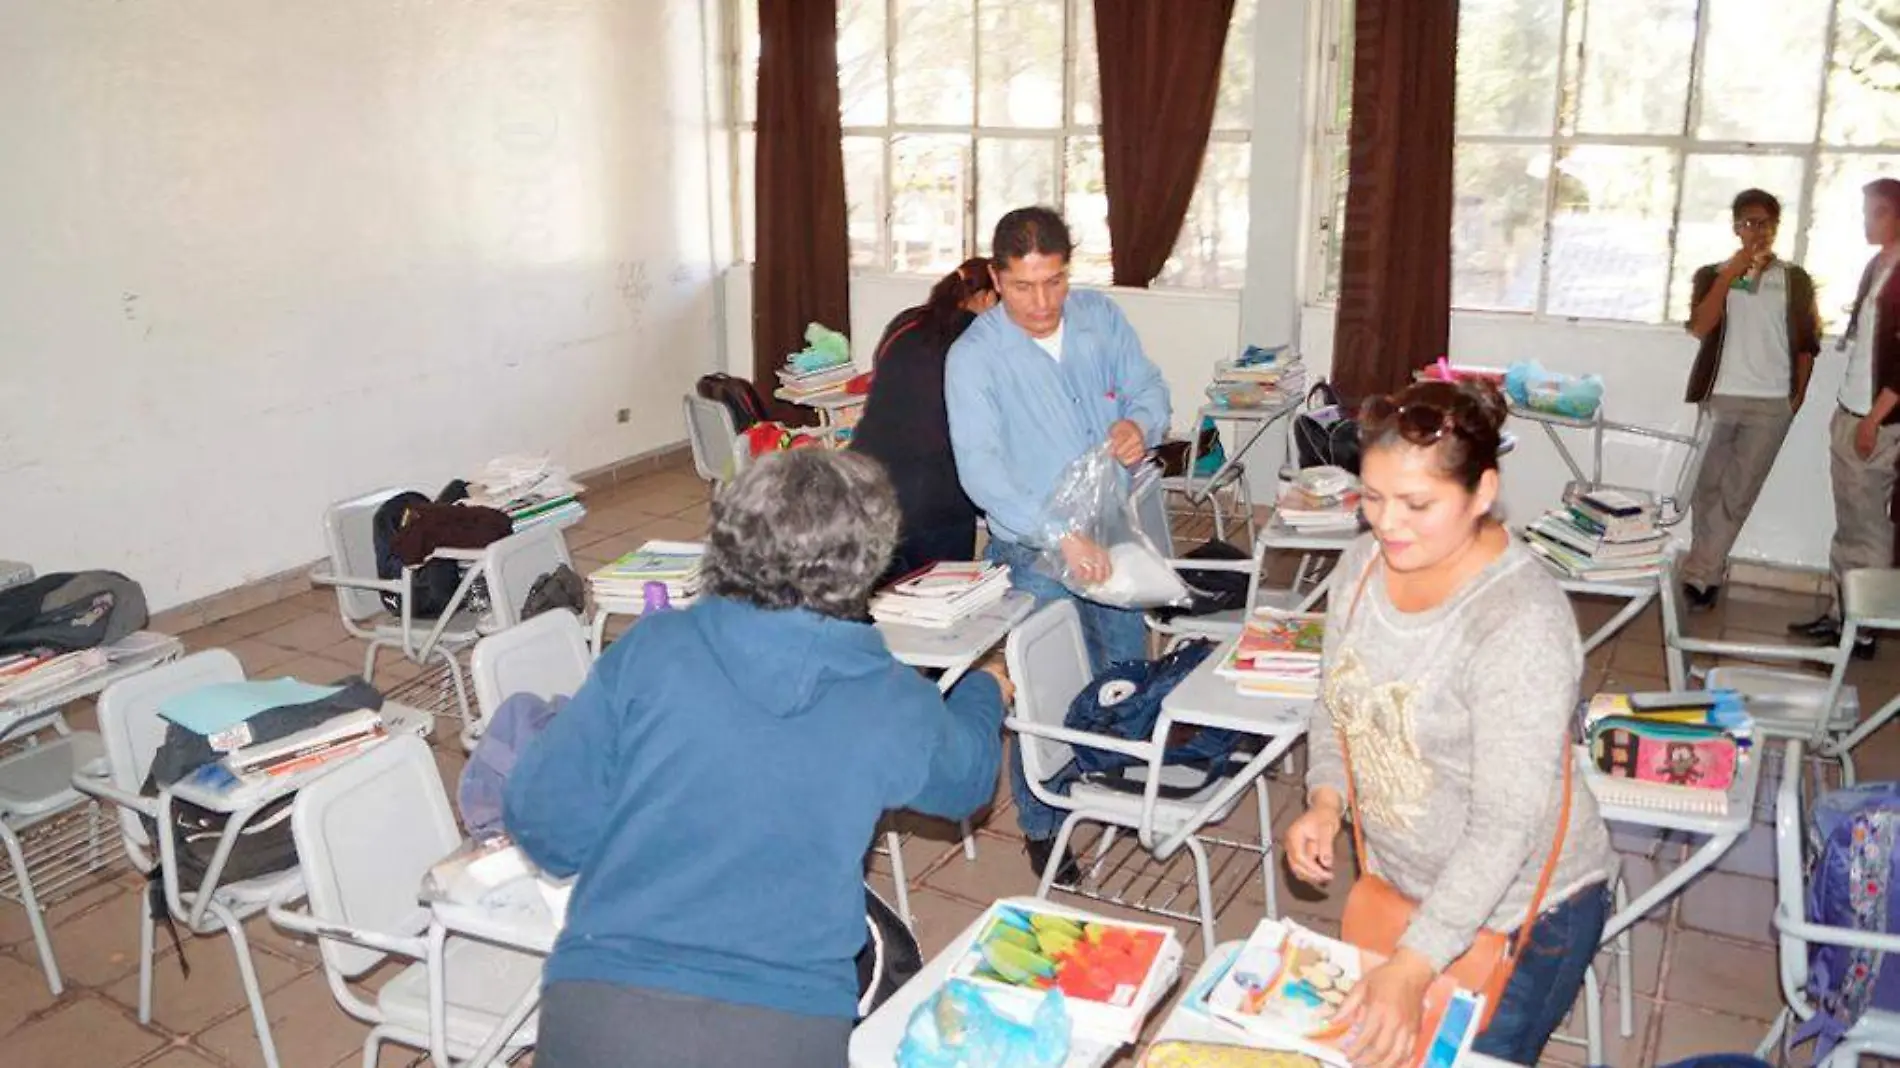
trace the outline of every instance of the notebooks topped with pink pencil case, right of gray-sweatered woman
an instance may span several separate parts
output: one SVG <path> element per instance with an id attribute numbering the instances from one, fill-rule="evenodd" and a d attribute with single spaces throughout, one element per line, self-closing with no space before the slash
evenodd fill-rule
<path id="1" fill-rule="evenodd" d="M 1754 720 L 1733 690 L 1598 694 L 1581 735 L 1598 802 L 1721 815 Z"/>

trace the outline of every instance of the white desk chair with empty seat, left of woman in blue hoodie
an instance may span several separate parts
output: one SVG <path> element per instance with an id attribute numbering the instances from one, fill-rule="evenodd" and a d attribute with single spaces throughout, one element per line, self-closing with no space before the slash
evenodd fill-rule
<path id="1" fill-rule="evenodd" d="M 296 792 L 291 834 L 304 886 L 270 901 L 270 920 L 317 939 L 323 975 L 344 1013 L 370 1024 L 363 1066 L 382 1043 L 426 1049 L 435 1064 L 467 1058 L 542 981 L 542 958 L 471 939 L 429 937 L 422 876 L 462 844 L 429 747 L 395 737 Z M 306 897 L 306 910 L 289 903 Z M 397 956 L 410 963 L 363 1000 L 353 979 Z M 534 1045 L 522 1024 L 507 1051 Z"/>

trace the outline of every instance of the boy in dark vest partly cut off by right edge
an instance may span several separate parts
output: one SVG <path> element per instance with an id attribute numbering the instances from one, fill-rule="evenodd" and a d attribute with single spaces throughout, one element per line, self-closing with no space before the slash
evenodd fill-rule
<path id="1" fill-rule="evenodd" d="M 1828 460 L 1834 473 L 1834 602 L 1818 620 L 1794 623 L 1792 633 L 1818 642 L 1841 639 L 1841 576 L 1854 568 L 1885 568 L 1894 559 L 1894 524 L 1887 505 L 1894 496 L 1900 464 L 1900 179 L 1877 179 L 1862 190 L 1862 217 L 1870 245 L 1879 253 L 1860 274 L 1854 312 L 1841 348 L 1847 378 L 1828 424 Z M 1873 639 L 1860 637 L 1854 656 L 1873 658 Z"/>

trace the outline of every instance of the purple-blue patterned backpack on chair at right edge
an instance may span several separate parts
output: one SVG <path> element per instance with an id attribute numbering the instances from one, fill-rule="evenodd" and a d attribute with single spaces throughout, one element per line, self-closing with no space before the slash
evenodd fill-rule
<path id="1" fill-rule="evenodd" d="M 1786 773 L 1786 772 L 1784 772 Z M 1900 834 L 1900 783 L 1866 783 L 1824 794 L 1807 827 L 1807 918 L 1830 927 L 1900 933 L 1900 895 L 1892 893 L 1894 838 Z M 1900 963 L 1849 946 L 1809 946 L 1807 994 L 1814 1017 L 1794 1041 L 1816 1038 L 1814 1062 L 1866 1009 L 1900 1011 Z"/>

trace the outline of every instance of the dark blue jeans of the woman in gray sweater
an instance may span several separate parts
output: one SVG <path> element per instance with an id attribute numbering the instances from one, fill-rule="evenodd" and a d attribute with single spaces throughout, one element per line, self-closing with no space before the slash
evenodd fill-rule
<path id="1" fill-rule="evenodd" d="M 1607 884 L 1586 886 L 1539 916 L 1531 941 L 1497 1000 L 1492 1026 L 1471 1043 L 1472 1053 L 1512 1064 L 1537 1064 L 1550 1032 L 1577 1001 L 1583 973 L 1604 941 L 1606 920 Z"/>

